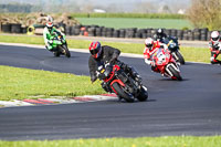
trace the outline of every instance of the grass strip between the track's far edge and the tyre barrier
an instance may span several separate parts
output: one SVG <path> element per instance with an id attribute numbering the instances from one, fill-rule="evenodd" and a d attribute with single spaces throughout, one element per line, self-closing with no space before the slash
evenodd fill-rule
<path id="1" fill-rule="evenodd" d="M 13 42 L 13 43 L 27 43 L 27 44 L 39 44 L 43 45 L 43 38 L 40 36 L 27 36 L 27 35 L 2 35 L 0 34 L 0 42 Z M 75 49 L 88 49 L 91 41 L 83 40 L 67 40 L 69 48 Z M 120 42 L 103 42 L 103 45 L 110 45 L 119 49 L 124 53 L 143 54 L 143 43 L 120 43 Z M 210 63 L 210 51 L 204 48 L 185 48 L 180 46 L 180 51 L 185 56 L 186 61 L 190 62 L 204 62 Z"/>

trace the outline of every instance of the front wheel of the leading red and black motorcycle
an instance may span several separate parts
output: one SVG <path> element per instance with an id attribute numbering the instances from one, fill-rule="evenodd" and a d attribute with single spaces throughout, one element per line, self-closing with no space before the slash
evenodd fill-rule
<path id="1" fill-rule="evenodd" d="M 112 86 L 113 86 L 114 90 L 117 92 L 117 95 L 118 95 L 120 98 L 124 98 L 126 102 L 129 102 L 129 103 L 133 103 L 133 102 L 134 102 L 134 96 L 127 94 L 127 93 L 122 88 L 122 86 L 120 86 L 118 83 L 114 83 Z"/>

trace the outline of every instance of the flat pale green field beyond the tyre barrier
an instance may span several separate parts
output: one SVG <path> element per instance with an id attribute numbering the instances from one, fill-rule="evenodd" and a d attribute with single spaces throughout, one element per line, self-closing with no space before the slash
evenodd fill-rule
<path id="1" fill-rule="evenodd" d="M 166 29 L 193 29 L 185 19 L 145 19 L 145 18 L 76 18 L 82 24 L 96 24 L 106 28 L 166 28 Z"/>

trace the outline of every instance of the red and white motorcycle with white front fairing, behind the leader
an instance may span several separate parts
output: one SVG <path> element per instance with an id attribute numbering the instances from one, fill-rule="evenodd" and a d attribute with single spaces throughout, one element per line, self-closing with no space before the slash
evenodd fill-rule
<path id="1" fill-rule="evenodd" d="M 179 66 L 177 65 L 168 49 L 156 49 L 155 53 L 150 57 L 164 76 L 171 77 L 172 80 L 178 81 L 182 80 Z"/>

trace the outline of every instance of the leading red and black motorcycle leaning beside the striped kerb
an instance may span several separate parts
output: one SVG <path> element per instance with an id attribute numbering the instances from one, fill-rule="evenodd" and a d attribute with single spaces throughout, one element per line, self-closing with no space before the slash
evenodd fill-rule
<path id="1" fill-rule="evenodd" d="M 115 93 L 120 99 L 131 103 L 135 98 L 140 102 L 148 98 L 147 87 L 141 82 L 135 81 L 129 73 L 126 73 L 120 67 L 120 63 L 99 65 L 97 76 L 107 86 L 108 92 Z"/>

